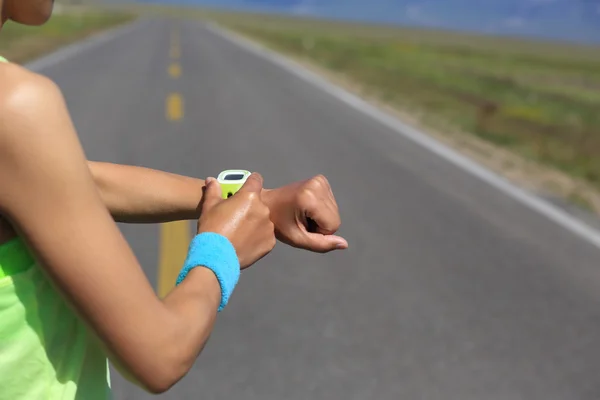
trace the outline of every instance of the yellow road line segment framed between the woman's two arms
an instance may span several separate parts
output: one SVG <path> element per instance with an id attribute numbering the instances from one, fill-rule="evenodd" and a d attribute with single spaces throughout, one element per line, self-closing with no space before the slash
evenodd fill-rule
<path id="1" fill-rule="evenodd" d="M 188 221 L 160 225 L 160 258 L 158 264 L 158 295 L 162 298 L 175 286 L 190 244 Z"/>

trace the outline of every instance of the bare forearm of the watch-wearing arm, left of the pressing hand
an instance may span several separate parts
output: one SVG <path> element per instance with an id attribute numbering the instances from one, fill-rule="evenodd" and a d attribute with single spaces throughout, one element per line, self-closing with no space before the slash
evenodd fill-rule
<path id="1" fill-rule="evenodd" d="M 199 216 L 204 180 L 131 165 L 88 161 L 117 222 L 160 223 Z"/>

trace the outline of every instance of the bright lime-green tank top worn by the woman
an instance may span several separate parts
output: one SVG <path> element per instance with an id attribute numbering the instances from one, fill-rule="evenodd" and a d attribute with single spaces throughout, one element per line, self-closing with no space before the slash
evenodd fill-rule
<path id="1" fill-rule="evenodd" d="M 21 238 L 1 244 L 0 400 L 110 398 L 108 360 L 95 336 Z"/>

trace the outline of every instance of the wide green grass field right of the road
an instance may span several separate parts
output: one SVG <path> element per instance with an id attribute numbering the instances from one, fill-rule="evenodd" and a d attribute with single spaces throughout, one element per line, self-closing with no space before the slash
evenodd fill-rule
<path id="1" fill-rule="evenodd" d="M 203 17 L 600 188 L 600 48 L 279 16 Z"/>

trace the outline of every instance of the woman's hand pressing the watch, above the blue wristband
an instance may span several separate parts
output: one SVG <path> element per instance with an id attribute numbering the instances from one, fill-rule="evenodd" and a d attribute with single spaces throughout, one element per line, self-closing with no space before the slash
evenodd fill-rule
<path id="1" fill-rule="evenodd" d="M 198 233 L 221 234 L 233 244 L 242 269 L 248 268 L 275 247 L 274 225 L 269 208 L 261 200 L 263 179 L 251 174 L 232 197 L 221 198 L 221 185 L 214 178 L 205 182 Z"/>

